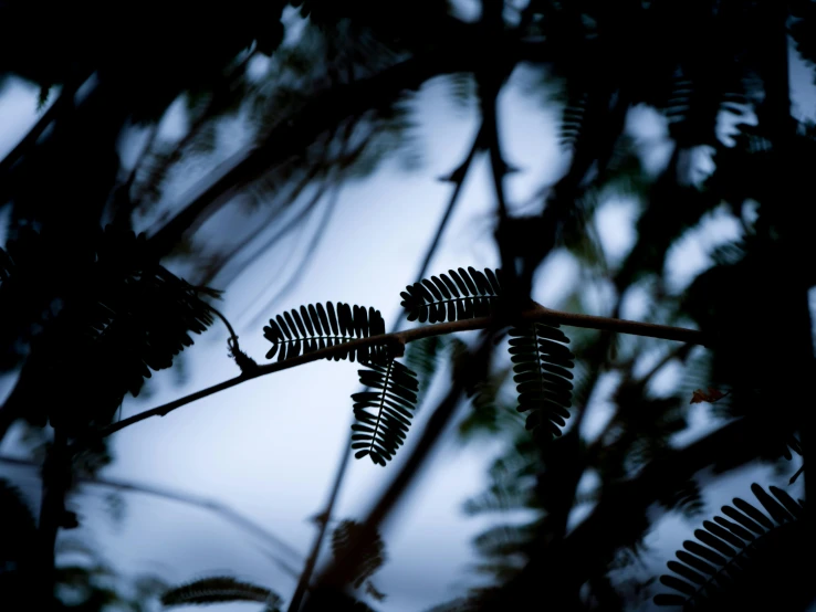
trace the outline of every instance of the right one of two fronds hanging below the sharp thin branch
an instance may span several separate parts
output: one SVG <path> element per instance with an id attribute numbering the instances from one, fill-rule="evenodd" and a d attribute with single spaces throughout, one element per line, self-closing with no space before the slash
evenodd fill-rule
<path id="1" fill-rule="evenodd" d="M 544 429 L 555 436 L 569 418 L 575 356 L 565 346 L 569 338 L 557 326 L 534 323 L 510 330 L 513 381 L 519 392 L 519 412 L 531 411 L 526 428 L 540 435 Z"/>

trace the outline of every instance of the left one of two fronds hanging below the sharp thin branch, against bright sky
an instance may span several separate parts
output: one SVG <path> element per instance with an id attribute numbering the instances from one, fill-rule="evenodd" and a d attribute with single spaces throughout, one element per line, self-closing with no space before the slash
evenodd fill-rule
<path id="1" fill-rule="evenodd" d="M 359 370 L 359 381 L 370 389 L 352 395 L 354 416 L 352 449 L 355 457 L 372 457 L 385 465 L 405 442 L 417 405 L 419 383 L 417 374 L 395 359 L 386 363 L 365 363 Z M 374 409 L 369 412 L 368 409 Z"/>

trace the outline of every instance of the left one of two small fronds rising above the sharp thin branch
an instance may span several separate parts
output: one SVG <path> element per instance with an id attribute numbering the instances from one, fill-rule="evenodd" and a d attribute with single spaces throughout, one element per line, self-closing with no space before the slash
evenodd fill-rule
<path id="1" fill-rule="evenodd" d="M 269 319 L 269 325 L 263 328 L 263 337 L 272 342 L 266 359 L 278 355 L 279 361 L 385 333 L 385 321 L 379 310 L 366 310 L 365 307 L 349 306 L 342 302 L 337 303 L 336 310 L 331 302 L 326 303 L 325 308 L 323 304 L 292 308 L 289 313 Z M 334 360 L 354 361 L 356 356 L 360 363 L 380 362 L 384 355 L 383 347 L 349 348 L 346 352 L 335 355 Z"/>

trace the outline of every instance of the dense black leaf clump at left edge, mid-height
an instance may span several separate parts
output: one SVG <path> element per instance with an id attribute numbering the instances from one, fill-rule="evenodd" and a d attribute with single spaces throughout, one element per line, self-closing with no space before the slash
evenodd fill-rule
<path id="1" fill-rule="evenodd" d="M 11 327 L 39 330 L 2 410 L 32 402 L 45 412 L 28 410 L 27 420 L 42 425 L 48 416 L 53 426 L 76 435 L 108 422 L 125 393 L 138 395 L 151 370 L 169 368 L 192 345 L 190 335 L 212 324 L 201 298 L 211 292 L 159 265 L 144 235 L 112 226 L 100 231 L 93 243 L 73 251 L 70 276 L 61 278 L 54 273 L 62 273 L 62 266 L 49 271 L 50 260 L 43 261 L 43 240 L 48 236 L 27 233 L 10 241 L 2 255 L 0 303 L 8 304 Z M 90 373 L 97 382 L 82 402 L 66 405 L 66 390 Z M 38 382 L 41 377 L 50 383 Z"/>

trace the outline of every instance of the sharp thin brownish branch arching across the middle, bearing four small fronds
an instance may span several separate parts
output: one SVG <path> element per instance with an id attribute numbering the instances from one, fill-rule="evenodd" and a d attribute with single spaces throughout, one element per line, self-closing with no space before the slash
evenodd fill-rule
<path id="1" fill-rule="evenodd" d="M 671 327 L 668 325 L 656 325 L 651 323 L 640 323 L 626 319 L 613 319 L 608 317 L 598 317 L 593 315 L 563 313 L 561 310 L 551 310 L 541 305 L 520 313 L 515 317 L 503 317 L 501 320 L 499 317 L 479 317 L 473 319 L 440 323 L 436 325 L 428 325 L 425 327 L 415 327 L 405 331 L 398 331 L 393 334 L 381 334 L 378 336 L 372 336 L 369 338 L 358 338 L 349 342 L 335 345 L 332 347 L 322 348 L 313 352 L 305 355 L 299 355 L 284 361 L 278 361 L 275 363 L 269 363 L 265 366 L 259 366 L 257 370 L 241 373 L 236 378 L 219 382 L 207 389 L 201 389 L 184 398 L 179 398 L 166 404 L 159 405 L 151 410 L 146 410 L 138 414 L 134 414 L 127 419 L 123 419 L 117 423 L 113 423 L 95 432 L 87 434 L 84 437 L 79 439 L 72 445 L 72 449 L 83 447 L 88 442 L 93 442 L 101 437 L 107 437 L 108 435 L 116 433 L 134 423 L 138 423 L 151 416 L 166 416 L 177 408 L 187 405 L 188 403 L 201 400 L 219 391 L 224 391 L 248 380 L 259 378 L 262 376 L 271 374 L 282 370 L 289 370 L 304 363 L 317 361 L 336 355 L 347 354 L 349 350 L 357 350 L 365 347 L 372 346 L 405 346 L 408 342 L 414 342 L 422 338 L 429 338 L 432 336 L 444 336 L 448 334 L 456 334 L 458 331 L 472 331 L 477 329 L 488 329 L 491 326 L 502 325 L 516 325 L 526 323 L 548 323 L 558 325 L 568 325 L 572 327 L 583 327 L 587 329 L 609 329 L 621 334 L 631 334 L 635 336 L 648 336 L 650 338 L 662 338 L 666 340 L 677 340 L 680 342 L 689 342 L 693 345 L 708 346 L 708 338 L 697 329 L 687 329 L 683 327 Z"/>

